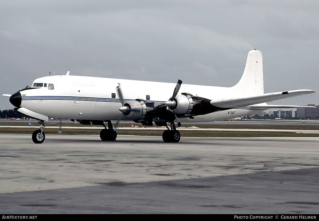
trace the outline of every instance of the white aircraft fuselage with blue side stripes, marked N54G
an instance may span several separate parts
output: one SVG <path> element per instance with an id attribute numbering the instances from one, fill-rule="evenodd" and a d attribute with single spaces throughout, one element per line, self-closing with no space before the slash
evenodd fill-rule
<path id="1" fill-rule="evenodd" d="M 124 102 L 144 99 L 154 107 L 165 103 L 175 84 L 83 76 L 48 76 L 33 82 L 33 89 L 20 90 L 21 104 L 36 113 L 52 118 L 87 120 L 130 120 L 118 110 L 122 107 L 115 87 L 121 85 Z M 34 87 L 37 86 L 37 87 Z M 234 95 L 231 88 L 182 84 L 180 92 L 203 98 Z M 19 108 L 18 107 L 18 108 Z M 258 110 L 259 111 L 259 110 Z M 231 119 L 257 112 L 248 107 L 181 118 L 182 122 L 205 122 Z"/>

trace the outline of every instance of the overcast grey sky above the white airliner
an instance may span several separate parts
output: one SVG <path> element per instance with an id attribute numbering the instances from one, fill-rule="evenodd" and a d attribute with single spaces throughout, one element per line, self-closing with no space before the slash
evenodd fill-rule
<path id="1" fill-rule="evenodd" d="M 3 0 L 0 94 L 55 71 L 230 87 L 256 48 L 265 93 L 317 91 L 270 104 L 318 105 L 318 12 L 317 0 Z"/>

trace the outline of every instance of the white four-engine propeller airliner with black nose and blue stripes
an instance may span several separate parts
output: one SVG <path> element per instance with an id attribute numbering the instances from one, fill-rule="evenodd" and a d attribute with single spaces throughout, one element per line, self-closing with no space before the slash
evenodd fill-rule
<path id="1" fill-rule="evenodd" d="M 167 127 L 162 136 L 164 142 L 177 143 L 180 133 L 176 130 L 175 120 L 180 127 L 181 121 L 210 122 L 269 108 L 309 107 L 266 104 L 309 93 L 314 91 L 264 94 L 262 54 L 252 50 L 240 81 L 233 87 L 186 85 L 181 80 L 175 86 L 172 83 L 70 76 L 68 72 L 63 76 L 38 78 L 32 87 L 3 96 L 10 97 L 16 112 L 40 123 L 40 128 L 32 134 L 34 143 L 44 141 L 44 122 L 49 117 L 104 126 L 100 132 L 103 141 L 116 139 L 111 121 L 133 120 L 147 126 L 154 122 L 157 126 Z M 104 122 L 108 122 L 108 127 Z"/>

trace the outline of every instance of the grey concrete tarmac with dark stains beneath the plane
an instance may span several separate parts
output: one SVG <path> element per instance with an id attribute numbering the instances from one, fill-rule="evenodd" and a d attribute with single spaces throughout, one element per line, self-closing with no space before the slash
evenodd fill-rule
<path id="1" fill-rule="evenodd" d="M 0 213 L 316 214 L 318 137 L 0 134 Z"/>

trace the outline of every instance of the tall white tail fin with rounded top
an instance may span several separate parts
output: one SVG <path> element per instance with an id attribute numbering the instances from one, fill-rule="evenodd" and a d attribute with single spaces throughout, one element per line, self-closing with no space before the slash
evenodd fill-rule
<path id="1" fill-rule="evenodd" d="M 249 51 L 244 74 L 233 90 L 241 96 L 263 94 L 263 57 L 260 51 Z"/>

